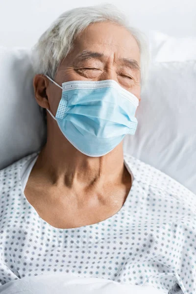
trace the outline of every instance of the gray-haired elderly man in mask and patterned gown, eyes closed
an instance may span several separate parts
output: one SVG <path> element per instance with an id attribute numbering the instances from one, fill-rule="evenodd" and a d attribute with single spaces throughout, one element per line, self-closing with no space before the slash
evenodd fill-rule
<path id="1" fill-rule="evenodd" d="M 0 172 L 1 285 L 62 272 L 196 293 L 196 198 L 123 154 L 146 44 L 110 5 L 68 11 L 39 39 L 33 84 L 47 143 Z"/>

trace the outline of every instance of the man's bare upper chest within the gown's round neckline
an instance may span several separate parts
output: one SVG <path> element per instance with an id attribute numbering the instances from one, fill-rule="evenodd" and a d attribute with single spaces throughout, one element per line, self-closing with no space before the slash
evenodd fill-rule
<path id="1" fill-rule="evenodd" d="M 57 198 L 26 186 L 25 197 L 35 209 L 39 217 L 55 228 L 77 228 L 95 224 L 115 215 L 123 206 L 125 199 L 122 193 L 119 198 L 111 198 L 108 202 L 91 198 L 88 202 L 78 205 L 71 197 Z"/>

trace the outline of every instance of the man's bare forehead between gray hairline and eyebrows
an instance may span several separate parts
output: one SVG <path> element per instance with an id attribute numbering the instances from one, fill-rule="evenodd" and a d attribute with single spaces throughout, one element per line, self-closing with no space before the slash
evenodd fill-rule
<path id="1" fill-rule="evenodd" d="M 108 58 L 132 58 L 140 65 L 140 51 L 135 38 L 120 25 L 110 22 L 91 24 L 77 36 L 74 44 L 75 54 L 83 50 L 96 51 Z"/>

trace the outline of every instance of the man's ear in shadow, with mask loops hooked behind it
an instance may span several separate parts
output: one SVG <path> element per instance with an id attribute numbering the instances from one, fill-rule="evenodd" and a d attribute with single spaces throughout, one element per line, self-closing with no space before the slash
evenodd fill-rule
<path id="1" fill-rule="evenodd" d="M 49 100 L 47 96 L 47 89 L 49 86 L 49 80 L 44 74 L 36 74 L 33 78 L 33 87 L 37 103 L 43 107 L 49 109 Z"/>

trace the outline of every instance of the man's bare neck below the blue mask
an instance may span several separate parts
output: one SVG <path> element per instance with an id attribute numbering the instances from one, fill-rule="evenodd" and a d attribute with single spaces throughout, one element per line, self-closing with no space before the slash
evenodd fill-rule
<path id="1" fill-rule="evenodd" d="M 51 134 L 51 133 L 50 133 Z M 78 151 L 60 130 L 48 134 L 33 168 L 48 185 L 85 188 L 101 183 L 120 183 L 123 179 L 123 142 L 108 154 L 90 157 Z"/>

